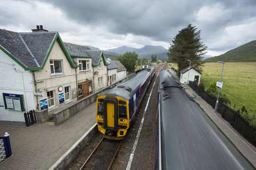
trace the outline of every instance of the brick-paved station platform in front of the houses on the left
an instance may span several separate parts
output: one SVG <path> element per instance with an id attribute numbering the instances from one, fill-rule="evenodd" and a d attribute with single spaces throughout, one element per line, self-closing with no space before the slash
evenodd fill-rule
<path id="1" fill-rule="evenodd" d="M 10 134 L 13 156 L 0 169 L 49 169 L 95 124 L 95 102 L 69 120 L 54 126 L 47 123 L 31 128 L 0 126 Z"/>

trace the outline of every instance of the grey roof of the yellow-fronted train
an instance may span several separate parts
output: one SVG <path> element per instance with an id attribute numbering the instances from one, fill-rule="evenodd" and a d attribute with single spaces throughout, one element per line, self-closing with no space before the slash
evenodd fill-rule
<path id="1" fill-rule="evenodd" d="M 129 100 L 134 95 L 135 91 L 140 87 L 140 84 L 151 74 L 151 71 L 154 68 L 154 66 L 151 66 L 140 71 L 132 78 L 129 78 L 128 80 L 118 84 L 116 87 L 103 92 L 100 96 L 113 95 L 121 97 L 125 100 Z"/>

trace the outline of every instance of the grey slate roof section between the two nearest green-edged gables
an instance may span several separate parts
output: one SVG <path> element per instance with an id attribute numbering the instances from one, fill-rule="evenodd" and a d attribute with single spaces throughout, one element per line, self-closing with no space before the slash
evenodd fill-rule
<path id="1" fill-rule="evenodd" d="M 71 56 L 86 56 L 86 50 L 91 50 L 89 47 L 81 46 L 77 44 L 71 44 L 71 43 L 64 43 L 66 46 L 69 55 Z"/>

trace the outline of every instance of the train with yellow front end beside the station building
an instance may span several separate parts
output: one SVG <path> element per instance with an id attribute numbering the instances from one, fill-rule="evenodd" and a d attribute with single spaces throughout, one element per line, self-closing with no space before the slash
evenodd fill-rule
<path id="1" fill-rule="evenodd" d="M 155 66 L 149 66 L 97 97 L 96 122 L 105 138 L 125 137 L 155 71 Z"/>

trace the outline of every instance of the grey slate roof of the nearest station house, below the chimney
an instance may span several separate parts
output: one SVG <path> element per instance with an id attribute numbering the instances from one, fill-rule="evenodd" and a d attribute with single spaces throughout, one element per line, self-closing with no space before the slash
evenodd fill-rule
<path id="1" fill-rule="evenodd" d="M 0 29 L 0 45 L 28 68 L 42 66 L 57 32 L 19 33 Z"/>

